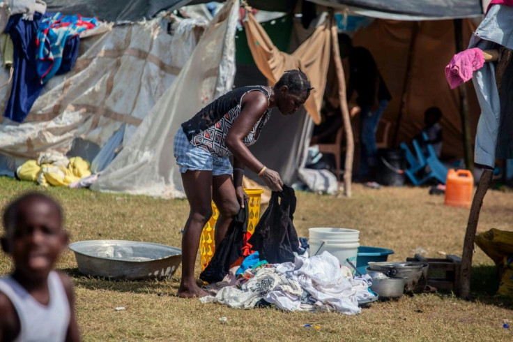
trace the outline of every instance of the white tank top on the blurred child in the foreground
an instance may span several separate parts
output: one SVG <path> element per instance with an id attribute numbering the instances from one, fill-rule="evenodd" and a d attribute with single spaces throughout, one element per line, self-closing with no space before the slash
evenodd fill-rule
<path id="1" fill-rule="evenodd" d="M 47 306 L 36 301 L 13 278 L 0 278 L 0 292 L 13 303 L 20 318 L 20 334 L 16 341 L 65 341 L 70 325 L 70 304 L 57 272 L 48 276 L 50 302 Z"/>

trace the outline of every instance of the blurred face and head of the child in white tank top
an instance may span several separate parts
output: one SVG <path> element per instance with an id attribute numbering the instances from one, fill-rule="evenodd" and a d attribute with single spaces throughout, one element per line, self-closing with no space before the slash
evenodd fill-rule
<path id="1" fill-rule="evenodd" d="M 16 216 L 7 228 L 6 252 L 27 278 L 46 276 L 68 244 L 59 212 L 45 200 L 29 199 L 20 203 Z"/>

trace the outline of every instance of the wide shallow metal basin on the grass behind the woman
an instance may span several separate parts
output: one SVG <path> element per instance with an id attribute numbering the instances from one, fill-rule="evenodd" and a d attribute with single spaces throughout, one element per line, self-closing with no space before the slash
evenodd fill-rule
<path id="1" fill-rule="evenodd" d="M 151 242 L 89 240 L 70 249 L 79 272 L 112 279 L 170 278 L 182 261 L 181 249 Z"/>

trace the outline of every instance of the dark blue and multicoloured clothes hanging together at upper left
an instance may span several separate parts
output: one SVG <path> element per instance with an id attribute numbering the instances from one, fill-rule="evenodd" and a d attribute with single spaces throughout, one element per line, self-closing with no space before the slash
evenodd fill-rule
<path id="1" fill-rule="evenodd" d="M 96 18 L 47 13 L 42 0 L 0 3 L 3 66 L 13 66 L 12 89 L 3 116 L 23 122 L 54 75 L 75 65 L 79 38 L 100 27 Z"/>

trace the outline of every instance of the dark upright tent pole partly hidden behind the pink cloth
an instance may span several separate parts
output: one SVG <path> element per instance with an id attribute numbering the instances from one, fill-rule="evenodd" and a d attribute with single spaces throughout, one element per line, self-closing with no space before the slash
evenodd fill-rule
<path id="1" fill-rule="evenodd" d="M 464 50 L 463 47 L 463 24 L 461 19 L 454 19 L 454 42 L 456 43 L 456 53 Z M 472 142 L 470 140 L 470 126 L 468 124 L 468 101 L 467 87 L 462 85 L 459 91 L 459 115 L 461 117 L 461 128 L 463 133 L 463 150 L 465 156 L 465 165 L 468 170 L 474 170 L 474 161 L 472 158 Z"/>

